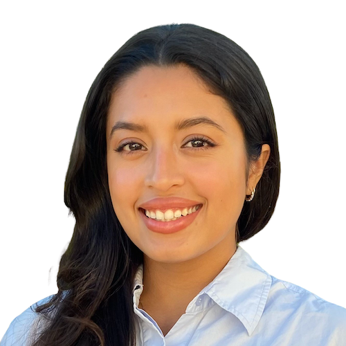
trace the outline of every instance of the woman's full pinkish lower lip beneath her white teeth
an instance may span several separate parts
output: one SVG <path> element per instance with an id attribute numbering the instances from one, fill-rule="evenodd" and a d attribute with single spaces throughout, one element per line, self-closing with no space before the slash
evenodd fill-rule
<path id="1" fill-rule="evenodd" d="M 201 208 L 202 207 L 200 206 L 200 208 L 195 212 L 192 212 L 185 217 L 179 217 L 179 219 L 176 219 L 174 221 L 156 221 L 155 219 L 147 217 L 141 210 L 139 211 L 139 213 L 145 223 L 145 226 L 147 226 L 149 230 L 152 230 L 156 233 L 170 234 L 176 233 L 179 230 L 183 230 L 184 228 L 192 224 Z"/>

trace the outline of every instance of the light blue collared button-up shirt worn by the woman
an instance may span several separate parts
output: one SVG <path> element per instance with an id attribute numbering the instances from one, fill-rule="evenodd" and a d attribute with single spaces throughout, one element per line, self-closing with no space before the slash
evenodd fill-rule
<path id="1" fill-rule="evenodd" d="M 241 246 L 165 336 L 138 308 L 142 291 L 140 266 L 133 295 L 137 346 L 346 346 L 346 309 L 269 275 Z M 15 318 L 0 345 L 26 345 L 35 315 L 29 308 Z"/>

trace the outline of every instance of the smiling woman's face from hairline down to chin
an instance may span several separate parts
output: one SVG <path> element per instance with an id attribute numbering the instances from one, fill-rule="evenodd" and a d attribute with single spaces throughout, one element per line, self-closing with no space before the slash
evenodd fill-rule
<path id="1" fill-rule="evenodd" d="M 242 130 L 226 101 L 187 66 L 145 66 L 113 94 L 107 169 L 120 224 L 152 260 L 234 253 L 235 226 L 251 192 Z M 143 207 L 153 199 L 155 206 Z M 176 219 L 156 220 L 163 215 Z"/>

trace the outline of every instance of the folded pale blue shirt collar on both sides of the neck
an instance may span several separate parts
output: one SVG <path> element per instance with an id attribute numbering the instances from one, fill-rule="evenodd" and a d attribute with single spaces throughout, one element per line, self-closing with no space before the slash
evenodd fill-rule
<path id="1" fill-rule="evenodd" d="M 134 295 L 134 301 L 138 305 L 139 295 L 143 291 L 143 264 L 138 267 L 134 278 L 134 291 L 136 289 L 139 290 Z M 222 309 L 233 313 L 251 336 L 260 322 L 270 289 L 271 275 L 238 245 L 222 271 L 192 302 L 206 293 Z M 191 307 L 190 303 L 186 312 L 190 312 Z"/>

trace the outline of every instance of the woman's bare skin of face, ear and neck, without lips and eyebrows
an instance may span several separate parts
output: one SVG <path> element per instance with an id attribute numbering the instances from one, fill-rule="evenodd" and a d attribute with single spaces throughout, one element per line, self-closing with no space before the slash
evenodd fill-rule
<path id="1" fill-rule="evenodd" d="M 197 116 L 208 116 L 223 131 L 206 124 L 174 129 L 176 122 Z M 119 120 L 146 125 L 148 131 L 118 129 L 110 136 Z M 194 136 L 215 146 L 191 141 Z M 138 145 L 116 152 L 127 140 Z M 246 181 L 241 127 L 226 101 L 183 64 L 145 66 L 113 93 L 107 118 L 111 201 L 125 232 L 143 251 L 140 302 L 164 335 L 235 253 L 237 219 L 269 155 L 265 144 Z M 154 233 L 143 223 L 138 206 L 155 197 L 183 197 L 203 207 L 187 228 Z"/>

